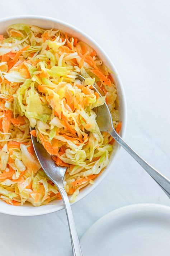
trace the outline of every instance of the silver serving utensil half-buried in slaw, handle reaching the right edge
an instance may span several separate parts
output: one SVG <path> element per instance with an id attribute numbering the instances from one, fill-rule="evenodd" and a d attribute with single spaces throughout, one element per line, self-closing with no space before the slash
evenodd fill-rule
<path id="1" fill-rule="evenodd" d="M 80 81 L 85 80 L 83 76 L 78 75 L 77 79 Z M 101 90 L 98 85 L 93 85 L 94 89 L 100 94 Z M 96 122 L 100 131 L 106 131 L 109 133 L 142 167 L 147 173 L 157 182 L 157 184 L 164 190 L 166 195 L 170 198 L 170 180 L 157 171 L 154 167 L 149 165 L 143 160 L 137 153 L 133 151 L 121 138 L 121 136 L 115 131 L 112 116 L 106 103 L 97 108 Z"/>

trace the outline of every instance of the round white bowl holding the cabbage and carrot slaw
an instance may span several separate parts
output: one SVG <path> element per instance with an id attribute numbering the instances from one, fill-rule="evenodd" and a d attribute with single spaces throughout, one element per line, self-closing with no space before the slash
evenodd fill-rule
<path id="1" fill-rule="evenodd" d="M 109 59 L 108 55 L 104 52 L 104 50 L 86 33 L 82 32 L 78 28 L 67 24 L 63 21 L 59 21 L 57 19 L 48 18 L 44 16 L 37 16 L 37 15 L 22 15 L 22 16 L 13 16 L 0 19 L 0 34 L 4 34 L 6 32 L 6 28 L 11 24 L 16 23 L 27 23 L 32 24 L 42 28 L 59 28 L 62 31 L 67 32 L 68 34 L 78 38 L 81 41 L 86 42 L 89 44 L 98 54 L 98 56 L 103 60 L 104 64 L 109 67 L 113 72 L 113 77 L 115 80 L 115 84 L 117 87 L 119 102 L 120 102 L 120 116 L 122 121 L 122 129 L 121 129 L 121 136 L 124 137 L 125 130 L 126 130 L 126 123 L 127 123 L 127 105 L 126 105 L 126 98 L 124 94 L 124 89 L 122 86 L 122 82 L 119 78 L 118 72 L 114 67 L 114 64 Z M 120 146 L 115 145 L 115 150 L 112 152 L 110 156 L 110 161 L 108 167 L 96 178 L 93 185 L 89 184 L 87 187 L 80 191 L 79 196 L 74 203 L 78 202 L 80 199 L 84 198 L 88 195 L 93 189 L 95 189 L 99 183 L 104 179 L 104 177 L 108 174 L 110 170 L 113 170 L 113 165 L 118 156 L 120 151 Z M 55 203 L 55 201 L 54 201 Z M 63 209 L 62 201 L 57 201 L 54 205 L 43 205 L 39 207 L 33 207 L 30 203 L 26 203 L 24 206 L 12 206 L 8 205 L 5 202 L 0 200 L 0 212 L 4 214 L 10 215 L 18 215 L 18 216 L 35 216 L 35 215 L 42 215 L 48 214 L 51 212 L 59 211 Z"/>

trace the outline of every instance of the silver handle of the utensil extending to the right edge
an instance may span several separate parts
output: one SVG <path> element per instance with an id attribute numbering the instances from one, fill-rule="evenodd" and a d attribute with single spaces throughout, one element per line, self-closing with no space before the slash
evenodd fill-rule
<path id="1" fill-rule="evenodd" d="M 170 198 L 170 180 L 134 152 L 114 130 L 110 132 L 110 135 L 143 167 L 143 169 L 145 169 L 145 171 L 147 171 Z"/>

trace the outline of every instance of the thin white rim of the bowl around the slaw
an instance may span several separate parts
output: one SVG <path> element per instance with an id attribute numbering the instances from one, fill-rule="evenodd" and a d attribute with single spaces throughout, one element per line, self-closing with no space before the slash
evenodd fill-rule
<path id="1" fill-rule="evenodd" d="M 12 23 L 12 21 L 14 19 L 37 19 L 37 20 L 51 21 L 51 22 L 54 22 L 56 24 L 63 25 L 65 27 L 67 27 L 67 28 L 70 28 L 71 30 L 76 31 L 77 33 L 79 33 L 80 35 L 82 35 L 83 37 L 85 37 L 86 39 L 91 41 L 96 46 L 96 48 L 98 48 L 98 50 L 104 55 L 104 57 L 107 59 L 107 62 L 112 67 L 112 69 L 113 69 L 113 71 L 115 73 L 115 76 L 117 78 L 119 88 L 121 90 L 122 101 L 123 101 L 123 106 L 122 106 L 123 107 L 122 108 L 122 112 L 123 112 L 123 118 L 122 118 L 123 126 L 122 126 L 122 129 L 121 129 L 122 130 L 121 131 L 122 132 L 121 137 L 123 139 L 124 136 L 125 136 L 126 127 L 127 127 L 127 102 L 126 102 L 126 95 L 125 95 L 125 92 L 124 92 L 124 87 L 123 87 L 121 78 L 119 76 L 119 73 L 117 72 L 117 69 L 115 68 L 114 63 L 109 58 L 109 56 L 107 55 L 105 50 L 103 50 L 103 48 L 101 48 L 101 46 L 93 38 L 91 38 L 91 36 L 86 34 L 84 31 L 80 30 L 79 28 L 71 25 L 70 23 L 61 21 L 59 19 L 55 19 L 55 18 L 51 18 L 51 17 L 46 17 L 46 16 L 43 16 L 43 15 L 13 15 L 13 16 L 8 16 L 8 17 L 1 18 L 0 19 L 0 24 L 2 22 L 7 22 L 7 21 L 11 21 L 11 23 Z M 121 146 L 118 145 L 118 147 L 116 149 L 116 152 L 114 153 L 114 158 L 112 160 L 113 162 L 115 162 L 115 160 L 117 159 L 118 154 L 120 152 L 120 149 L 121 149 Z M 71 205 L 74 205 L 76 202 L 79 202 L 82 198 L 87 196 L 96 187 L 98 187 L 98 185 L 101 183 L 101 181 L 103 181 L 103 179 L 105 178 L 105 176 L 108 174 L 109 171 L 110 171 L 110 168 L 109 169 L 105 169 L 105 171 L 102 172 L 102 175 L 100 175 L 99 178 L 95 180 L 95 183 L 93 184 L 93 186 L 90 186 L 86 193 L 84 193 L 84 194 L 80 193 L 79 196 L 77 197 L 77 199 L 75 200 L 75 202 L 71 203 Z M 12 206 L 11 206 L 11 209 L 10 209 L 11 211 L 6 211 L 6 210 L 0 208 L 0 213 L 8 214 L 8 215 L 14 215 L 14 216 L 37 216 L 37 215 L 44 215 L 44 214 L 49 214 L 49 213 L 52 213 L 52 212 L 60 211 L 60 210 L 64 209 L 64 205 L 57 206 L 57 207 L 54 207 L 52 209 L 48 209 L 48 208 L 45 209 L 42 206 L 36 207 L 36 208 L 37 208 L 37 212 L 34 212 L 34 213 L 29 212 L 27 214 L 27 213 L 23 213 L 22 211 L 18 212 L 18 213 L 16 213 L 16 212 L 13 213 Z"/>

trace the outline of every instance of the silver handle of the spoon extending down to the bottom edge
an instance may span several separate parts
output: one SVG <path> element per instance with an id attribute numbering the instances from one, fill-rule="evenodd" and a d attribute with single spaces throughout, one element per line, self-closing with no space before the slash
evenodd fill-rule
<path id="1" fill-rule="evenodd" d="M 59 192 L 62 196 L 64 207 L 65 207 L 65 210 L 66 210 L 67 221 L 68 221 L 68 224 L 69 224 L 70 238 L 71 238 L 72 255 L 73 256 L 83 256 L 82 251 L 81 251 L 81 247 L 80 247 L 79 237 L 77 235 L 77 230 L 76 230 L 76 226 L 75 226 L 75 223 L 74 223 L 74 218 L 73 218 L 73 215 L 72 215 L 72 210 L 71 210 L 69 198 L 67 196 L 66 190 L 65 190 L 63 184 L 61 184 L 59 186 L 59 184 L 57 183 L 56 185 L 57 185 L 58 190 L 59 190 Z"/>

